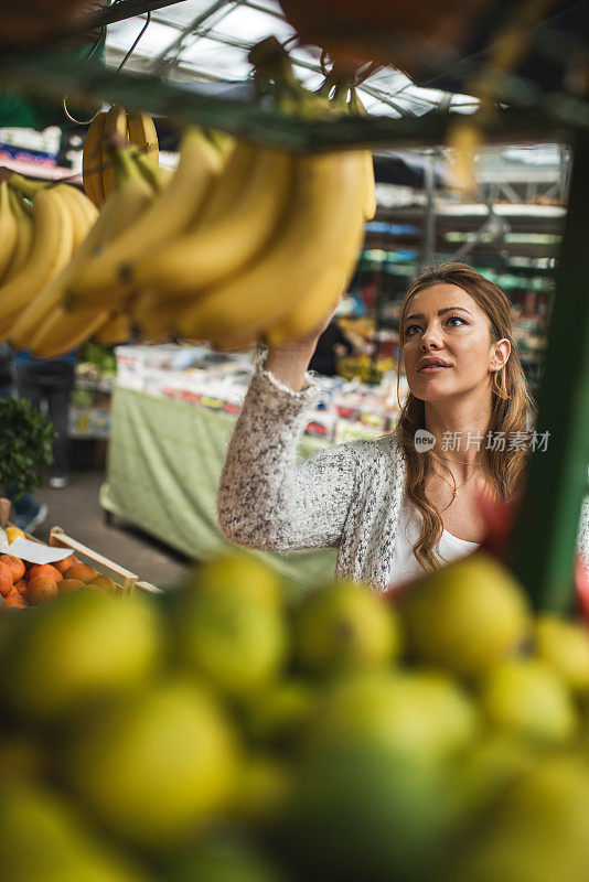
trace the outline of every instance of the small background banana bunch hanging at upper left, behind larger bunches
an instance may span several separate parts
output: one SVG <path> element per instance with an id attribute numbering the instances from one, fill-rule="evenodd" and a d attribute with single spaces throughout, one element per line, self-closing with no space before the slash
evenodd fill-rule
<path id="1" fill-rule="evenodd" d="M 159 165 L 158 136 L 153 120 L 142 111 L 127 114 L 124 107 L 97 114 L 84 142 L 82 178 L 84 192 L 99 208 L 115 189 L 113 151 L 115 147 L 133 144 L 147 162 L 146 172 Z"/>

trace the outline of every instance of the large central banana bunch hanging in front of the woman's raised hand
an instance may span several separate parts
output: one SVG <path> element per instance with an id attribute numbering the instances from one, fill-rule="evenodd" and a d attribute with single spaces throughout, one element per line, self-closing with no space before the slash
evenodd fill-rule
<path id="1" fill-rule="evenodd" d="M 299 88 L 288 95 L 296 111 L 360 112 L 347 87 L 336 89 L 335 107 Z M 66 309 L 130 312 L 148 341 L 181 336 L 226 349 L 313 331 L 345 290 L 374 215 L 370 152 L 294 155 L 233 139 L 216 148 L 186 132 L 171 182 L 83 261 Z"/>

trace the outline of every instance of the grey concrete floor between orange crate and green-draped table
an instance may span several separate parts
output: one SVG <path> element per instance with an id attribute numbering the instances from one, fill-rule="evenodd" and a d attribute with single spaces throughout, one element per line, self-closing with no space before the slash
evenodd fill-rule
<path id="1" fill-rule="evenodd" d="M 104 470 L 94 466 L 74 470 L 64 490 L 52 490 L 45 483 L 35 495 L 50 510 L 35 536 L 47 541 L 51 528 L 60 526 L 72 538 L 137 573 L 139 579 L 161 588 L 181 581 L 191 564 L 183 555 L 118 517 L 107 526 L 98 504 L 103 481 Z"/>

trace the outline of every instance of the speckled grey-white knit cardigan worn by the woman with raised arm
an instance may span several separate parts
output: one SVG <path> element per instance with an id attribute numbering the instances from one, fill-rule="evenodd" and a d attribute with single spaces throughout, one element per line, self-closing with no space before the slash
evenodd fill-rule
<path id="1" fill-rule="evenodd" d="M 265 551 L 338 548 L 338 576 L 383 590 L 392 581 L 405 456 L 385 435 L 297 462 L 319 397 L 309 376 L 293 392 L 258 365 L 221 475 L 218 521 L 231 541 Z M 589 498 L 577 541 L 589 562 Z"/>

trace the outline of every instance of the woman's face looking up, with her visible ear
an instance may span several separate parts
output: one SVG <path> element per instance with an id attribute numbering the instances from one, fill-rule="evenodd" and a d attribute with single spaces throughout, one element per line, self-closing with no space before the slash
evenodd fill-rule
<path id="1" fill-rule="evenodd" d="M 489 318 L 456 284 L 435 284 L 415 294 L 403 327 L 407 381 L 424 401 L 488 390 L 490 372 L 502 367 L 510 355 L 510 342 L 491 342 Z M 428 366 L 435 361 L 445 366 Z"/>

